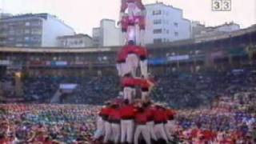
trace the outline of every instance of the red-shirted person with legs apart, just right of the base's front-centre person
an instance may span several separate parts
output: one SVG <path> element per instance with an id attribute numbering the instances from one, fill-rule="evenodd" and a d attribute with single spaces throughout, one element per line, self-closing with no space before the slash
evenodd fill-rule
<path id="1" fill-rule="evenodd" d="M 148 122 L 148 114 L 142 105 L 138 107 L 137 113 L 135 115 L 135 123 L 136 123 L 136 130 L 134 133 L 134 144 L 138 144 L 138 138 L 140 134 L 146 141 L 146 144 L 150 144 L 150 131 L 146 126 L 146 122 Z"/>

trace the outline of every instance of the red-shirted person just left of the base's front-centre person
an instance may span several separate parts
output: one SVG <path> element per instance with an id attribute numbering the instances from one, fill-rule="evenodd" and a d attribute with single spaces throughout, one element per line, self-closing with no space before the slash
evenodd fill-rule
<path id="1" fill-rule="evenodd" d="M 114 143 L 118 143 L 121 135 L 121 114 L 118 103 L 114 103 L 111 108 L 109 121 L 111 123 L 112 138 L 114 138 Z"/>

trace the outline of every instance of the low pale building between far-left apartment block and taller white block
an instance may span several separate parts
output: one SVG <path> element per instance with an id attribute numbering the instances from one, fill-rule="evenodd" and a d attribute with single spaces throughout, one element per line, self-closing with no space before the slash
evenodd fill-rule
<path id="1" fill-rule="evenodd" d="M 58 37 L 58 47 L 75 48 L 90 46 L 93 46 L 93 40 L 87 34 L 74 34 Z"/>

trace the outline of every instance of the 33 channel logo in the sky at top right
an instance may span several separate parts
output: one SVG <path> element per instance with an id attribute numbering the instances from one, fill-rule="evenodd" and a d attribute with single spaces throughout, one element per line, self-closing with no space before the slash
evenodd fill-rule
<path id="1" fill-rule="evenodd" d="M 213 11 L 230 11 L 231 0 L 212 0 L 211 9 Z"/>

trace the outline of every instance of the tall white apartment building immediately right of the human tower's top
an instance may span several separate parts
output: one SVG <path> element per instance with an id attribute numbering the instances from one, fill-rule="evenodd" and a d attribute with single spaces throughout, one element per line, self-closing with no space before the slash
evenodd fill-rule
<path id="1" fill-rule="evenodd" d="M 190 31 L 182 10 L 162 2 L 146 5 L 146 44 L 188 39 Z"/>

